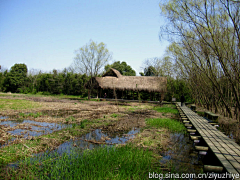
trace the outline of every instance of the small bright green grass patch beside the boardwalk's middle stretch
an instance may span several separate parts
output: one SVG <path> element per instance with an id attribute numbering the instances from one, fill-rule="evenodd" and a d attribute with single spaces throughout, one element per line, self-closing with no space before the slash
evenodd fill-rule
<path id="1" fill-rule="evenodd" d="M 186 133 L 185 126 L 175 119 L 149 118 L 146 119 L 146 124 L 156 128 L 167 128 L 171 132 Z"/>

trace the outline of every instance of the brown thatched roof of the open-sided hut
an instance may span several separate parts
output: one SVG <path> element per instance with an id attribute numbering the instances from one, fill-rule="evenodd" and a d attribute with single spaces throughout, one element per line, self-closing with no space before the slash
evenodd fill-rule
<path id="1" fill-rule="evenodd" d="M 90 80 L 91 81 L 91 80 Z M 90 81 L 85 85 L 90 87 Z M 92 78 L 94 88 L 166 92 L 167 78 L 153 76 L 122 76 L 119 71 L 111 68 L 102 77 Z"/>

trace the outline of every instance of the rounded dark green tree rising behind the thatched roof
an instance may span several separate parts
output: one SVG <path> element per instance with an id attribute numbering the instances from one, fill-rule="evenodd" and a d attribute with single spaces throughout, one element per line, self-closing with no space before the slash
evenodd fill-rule
<path id="1" fill-rule="evenodd" d="M 118 70 L 123 76 L 136 76 L 136 72 L 124 61 L 116 61 L 111 65 L 106 65 L 105 72 L 107 72 L 110 68 Z"/>

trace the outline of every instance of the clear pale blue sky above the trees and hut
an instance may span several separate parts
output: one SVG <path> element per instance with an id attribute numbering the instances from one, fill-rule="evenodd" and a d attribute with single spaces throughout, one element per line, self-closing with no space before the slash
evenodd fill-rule
<path id="1" fill-rule="evenodd" d="M 0 65 L 63 70 L 93 40 L 139 75 L 145 59 L 164 55 L 164 20 L 159 0 L 0 0 Z"/>

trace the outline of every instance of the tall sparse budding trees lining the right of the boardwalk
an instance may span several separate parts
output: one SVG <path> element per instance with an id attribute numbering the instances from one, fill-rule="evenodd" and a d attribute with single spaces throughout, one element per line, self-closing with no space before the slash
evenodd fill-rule
<path id="1" fill-rule="evenodd" d="M 240 3 L 234 0 L 167 0 L 161 37 L 194 101 L 240 120 Z"/>

